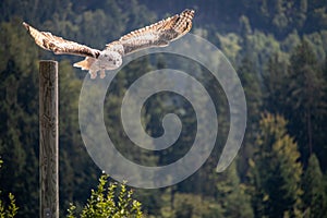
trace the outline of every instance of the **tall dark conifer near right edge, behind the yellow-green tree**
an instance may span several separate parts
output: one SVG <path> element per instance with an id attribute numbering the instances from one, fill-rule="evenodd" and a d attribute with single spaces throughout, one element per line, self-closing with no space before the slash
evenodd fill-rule
<path id="1" fill-rule="evenodd" d="M 290 58 L 287 81 L 283 116 L 289 120 L 290 134 L 296 137 L 301 158 L 306 164 L 310 155 L 325 144 L 318 141 L 318 134 L 323 128 L 320 116 L 326 110 L 322 69 L 306 40 L 301 41 Z"/>

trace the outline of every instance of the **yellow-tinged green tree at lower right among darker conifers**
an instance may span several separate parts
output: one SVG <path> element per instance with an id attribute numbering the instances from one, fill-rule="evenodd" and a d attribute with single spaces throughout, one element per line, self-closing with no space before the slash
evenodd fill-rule
<path id="1" fill-rule="evenodd" d="M 300 216 L 300 153 L 282 117 L 270 113 L 261 120 L 249 174 L 255 217 Z"/>

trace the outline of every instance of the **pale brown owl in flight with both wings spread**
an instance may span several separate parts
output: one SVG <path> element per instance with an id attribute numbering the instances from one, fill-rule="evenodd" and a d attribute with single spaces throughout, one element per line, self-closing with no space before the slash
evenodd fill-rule
<path id="1" fill-rule="evenodd" d="M 74 63 L 74 66 L 88 70 L 90 78 L 96 78 L 99 71 L 100 77 L 104 78 L 106 70 L 114 70 L 122 64 L 123 56 L 149 47 L 166 47 L 170 41 L 189 33 L 193 16 L 193 10 L 184 10 L 180 14 L 131 32 L 119 40 L 107 44 L 104 50 L 53 36 L 49 32 L 39 32 L 25 22 L 23 25 L 39 47 L 53 51 L 56 55 L 86 57 L 83 61 Z"/>

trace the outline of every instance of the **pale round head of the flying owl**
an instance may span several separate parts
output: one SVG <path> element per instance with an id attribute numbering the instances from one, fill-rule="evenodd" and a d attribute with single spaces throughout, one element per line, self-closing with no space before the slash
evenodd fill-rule
<path id="1" fill-rule="evenodd" d="M 117 51 L 104 50 L 98 57 L 99 66 L 105 70 L 114 70 L 122 64 L 122 57 Z"/>

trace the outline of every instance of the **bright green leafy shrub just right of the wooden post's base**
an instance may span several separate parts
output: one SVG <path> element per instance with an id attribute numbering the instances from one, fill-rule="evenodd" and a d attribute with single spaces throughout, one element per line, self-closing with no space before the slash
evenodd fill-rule
<path id="1" fill-rule="evenodd" d="M 81 218 L 101 217 L 135 217 L 141 218 L 141 203 L 133 199 L 133 191 L 128 190 L 125 184 L 111 183 L 107 185 L 109 175 L 102 174 L 97 190 L 92 190 L 90 197 L 83 208 Z M 68 218 L 76 217 L 76 206 L 70 205 Z"/>

